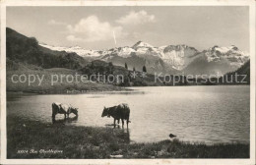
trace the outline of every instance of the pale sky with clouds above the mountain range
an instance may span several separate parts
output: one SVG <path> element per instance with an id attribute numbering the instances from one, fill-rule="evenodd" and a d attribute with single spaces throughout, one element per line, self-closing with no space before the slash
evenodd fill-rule
<path id="1" fill-rule="evenodd" d="M 249 8 L 8 7 L 7 27 L 54 46 L 106 49 L 142 40 L 198 50 L 235 45 L 249 52 Z"/>

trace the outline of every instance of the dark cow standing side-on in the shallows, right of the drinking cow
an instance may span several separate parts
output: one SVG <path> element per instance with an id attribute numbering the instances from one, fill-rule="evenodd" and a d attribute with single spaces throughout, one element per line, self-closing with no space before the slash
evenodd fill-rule
<path id="1" fill-rule="evenodd" d="M 116 120 L 118 124 L 120 119 L 122 120 L 122 128 L 124 125 L 124 120 L 126 120 L 127 129 L 128 129 L 128 124 L 131 122 L 129 121 L 130 108 L 127 104 L 119 104 L 117 106 L 108 107 L 108 108 L 104 107 L 101 117 L 103 118 L 105 116 L 107 116 L 108 118 L 110 118 L 110 116 L 114 118 L 114 127 L 115 127 Z"/>

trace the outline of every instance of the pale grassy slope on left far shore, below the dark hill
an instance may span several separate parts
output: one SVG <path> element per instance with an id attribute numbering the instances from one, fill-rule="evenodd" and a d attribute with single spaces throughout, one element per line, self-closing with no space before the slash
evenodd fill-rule
<path id="1" fill-rule="evenodd" d="M 52 69 L 21 69 L 21 70 L 10 70 L 6 73 L 7 91 L 14 92 L 31 92 L 31 93 L 80 93 L 87 91 L 112 91 L 112 90 L 125 90 L 123 87 L 116 86 L 109 83 L 93 83 L 93 82 L 81 82 L 81 77 L 78 77 L 78 81 L 75 81 L 76 75 L 83 75 L 82 73 L 64 69 L 64 68 L 52 68 Z M 23 75 L 21 81 L 20 76 Z M 68 82 L 67 77 L 73 77 L 73 82 Z M 29 83 L 30 76 L 31 82 Z M 39 79 L 41 82 L 39 81 Z M 70 80 L 70 79 L 69 79 Z M 55 83 L 53 83 L 56 81 Z"/>

